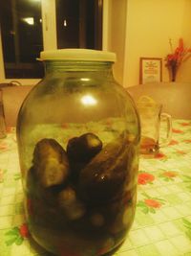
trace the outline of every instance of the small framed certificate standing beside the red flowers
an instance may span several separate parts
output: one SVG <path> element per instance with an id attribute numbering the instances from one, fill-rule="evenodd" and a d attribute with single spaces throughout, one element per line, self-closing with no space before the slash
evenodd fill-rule
<path id="1" fill-rule="evenodd" d="M 162 75 L 161 58 L 140 58 L 139 59 L 139 83 L 161 81 Z"/>

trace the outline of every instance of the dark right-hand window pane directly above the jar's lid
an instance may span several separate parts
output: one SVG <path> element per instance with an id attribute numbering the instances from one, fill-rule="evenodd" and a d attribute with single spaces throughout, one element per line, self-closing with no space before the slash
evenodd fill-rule
<path id="1" fill-rule="evenodd" d="M 58 48 L 102 48 L 102 0 L 56 0 Z"/>

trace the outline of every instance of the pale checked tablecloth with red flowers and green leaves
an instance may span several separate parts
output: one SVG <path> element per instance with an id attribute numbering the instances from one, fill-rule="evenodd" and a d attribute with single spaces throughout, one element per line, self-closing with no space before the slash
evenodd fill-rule
<path id="1" fill-rule="evenodd" d="M 25 221 L 14 128 L 0 140 L 0 256 L 10 255 L 50 255 Z M 136 218 L 115 255 L 191 255 L 191 121 L 173 120 L 170 145 L 140 157 Z"/>

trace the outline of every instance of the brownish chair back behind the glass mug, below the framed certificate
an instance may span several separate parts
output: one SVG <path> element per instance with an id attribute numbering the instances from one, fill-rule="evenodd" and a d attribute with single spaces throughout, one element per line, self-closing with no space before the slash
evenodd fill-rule
<path id="1" fill-rule="evenodd" d="M 162 111 L 171 114 L 173 118 L 191 119 L 191 82 L 160 82 L 139 84 L 128 87 L 135 101 L 140 96 L 149 96 L 161 104 Z"/>

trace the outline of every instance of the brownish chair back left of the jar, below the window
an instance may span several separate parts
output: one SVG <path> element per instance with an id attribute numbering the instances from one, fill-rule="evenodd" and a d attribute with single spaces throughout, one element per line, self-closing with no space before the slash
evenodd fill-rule
<path id="1" fill-rule="evenodd" d="M 15 127 L 19 109 L 33 85 L 6 86 L 0 90 L 6 127 Z"/>

